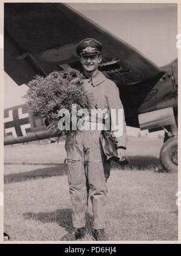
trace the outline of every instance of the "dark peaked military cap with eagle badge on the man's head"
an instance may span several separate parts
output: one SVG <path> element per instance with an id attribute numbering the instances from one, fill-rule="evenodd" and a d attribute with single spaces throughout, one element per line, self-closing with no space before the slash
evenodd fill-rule
<path id="1" fill-rule="evenodd" d="M 76 51 L 78 56 L 89 56 L 100 54 L 103 46 L 93 38 L 85 38 L 77 45 Z"/>

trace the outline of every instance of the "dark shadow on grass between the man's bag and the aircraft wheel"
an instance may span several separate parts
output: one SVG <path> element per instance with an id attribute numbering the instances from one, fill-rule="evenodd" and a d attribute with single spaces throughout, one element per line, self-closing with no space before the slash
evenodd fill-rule
<path id="1" fill-rule="evenodd" d="M 118 165 L 118 163 L 112 162 L 112 169 L 122 169 L 125 171 L 147 171 L 155 169 L 160 161 L 157 157 L 153 156 L 129 156 L 130 163 L 127 165 Z"/>

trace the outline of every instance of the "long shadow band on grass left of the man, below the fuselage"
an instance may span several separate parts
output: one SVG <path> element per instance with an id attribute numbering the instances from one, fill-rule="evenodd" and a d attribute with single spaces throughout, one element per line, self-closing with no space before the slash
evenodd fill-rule
<path id="1" fill-rule="evenodd" d="M 24 182 L 31 179 L 45 179 L 53 176 L 64 176 L 67 174 L 66 164 L 60 163 L 59 166 L 39 168 L 33 171 L 19 172 L 4 176 L 4 183 Z"/>

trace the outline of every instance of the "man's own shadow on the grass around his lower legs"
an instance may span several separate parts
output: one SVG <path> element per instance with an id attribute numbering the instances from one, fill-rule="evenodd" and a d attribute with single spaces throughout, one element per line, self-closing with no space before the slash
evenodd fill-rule
<path id="1" fill-rule="evenodd" d="M 67 232 L 71 233 L 74 231 L 72 227 L 72 215 L 71 209 L 59 209 L 55 212 L 39 212 L 32 213 L 27 212 L 23 214 L 26 220 L 35 220 L 43 223 L 57 223 L 66 229 Z M 93 217 L 89 213 L 86 215 L 86 226 L 90 234 L 94 231 L 93 228 Z"/>

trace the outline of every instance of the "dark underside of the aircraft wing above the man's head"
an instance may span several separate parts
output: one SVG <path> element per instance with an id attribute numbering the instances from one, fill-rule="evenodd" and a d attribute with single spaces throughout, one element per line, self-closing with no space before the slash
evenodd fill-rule
<path id="1" fill-rule="evenodd" d="M 100 70 L 119 88 L 127 125 L 138 126 L 138 107 L 163 75 L 159 67 L 66 4 L 4 4 L 4 70 L 18 85 L 36 74 L 81 70 L 75 47 L 84 38 L 103 44 Z"/>

